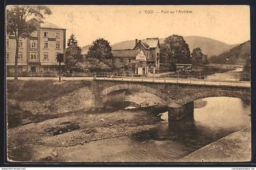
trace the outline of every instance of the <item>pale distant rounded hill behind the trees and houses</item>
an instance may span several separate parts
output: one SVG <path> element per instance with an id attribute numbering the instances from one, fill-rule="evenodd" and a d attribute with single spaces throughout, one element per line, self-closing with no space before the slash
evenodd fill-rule
<path id="1" fill-rule="evenodd" d="M 219 55 L 222 52 L 228 51 L 236 45 L 230 45 L 223 43 L 221 41 L 213 40 L 211 38 L 188 36 L 183 37 L 188 43 L 190 51 L 194 48 L 201 48 L 202 52 L 208 56 Z M 160 43 L 163 43 L 165 38 L 160 38 Z M 133 49 L 135 46 L 135 40 L 121 41 L 119 43 L 113 44 L 112 49 Z M 86 54 L 90 45 L 84 46 L 82 48 L 82 53 Z"/>

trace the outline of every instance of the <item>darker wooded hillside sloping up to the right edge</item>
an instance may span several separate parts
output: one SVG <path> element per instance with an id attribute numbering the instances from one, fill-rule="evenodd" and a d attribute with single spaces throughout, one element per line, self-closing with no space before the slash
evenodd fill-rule
<path id="1" fill-rule="evenodd" d="M 249 40 L 235 46 L 229 51 L 209 58 L 209 62 L 216 64 L 244 65 L 246 58 L 250 58 L 250 48 L 251 41 Z"/>

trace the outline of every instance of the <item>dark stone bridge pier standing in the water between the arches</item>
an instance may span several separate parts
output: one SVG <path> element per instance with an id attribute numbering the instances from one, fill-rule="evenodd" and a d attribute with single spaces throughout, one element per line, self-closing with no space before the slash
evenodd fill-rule
<path id="1" fill-rule="evenodd" d="M 193 130 L 194 101 L 178 108 L 168 108 L 169 131 L 174 134 L 184 134 Z"/>

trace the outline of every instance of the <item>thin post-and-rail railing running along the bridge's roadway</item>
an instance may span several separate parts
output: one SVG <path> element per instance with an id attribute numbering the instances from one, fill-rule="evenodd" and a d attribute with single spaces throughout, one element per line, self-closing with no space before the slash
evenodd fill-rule
<path id="1" fill-rule="evenodd" d="M 199 75 L 183 75 L 183 74 L 168 74 L 165 76 L 150 75 L 135 75 L 131 72 L 98 72 L 98 73 L 62 73 L 60 76 L 62 80 L 118 80 L 118 81 L 132 81 L 132 82 L 160 82 L 160 83 L 189 83 L 201 85 L 232 85 L 251 87 L 251 77 L 243 76 L 228 76 L 223 79 L 221 76 L 210 79 L 207 74 Z M 59 77 L 59 73 L 26 73 L 19 75 L 19 77 Z M 247 80 L 247 81 L 246 81 Z"/>

